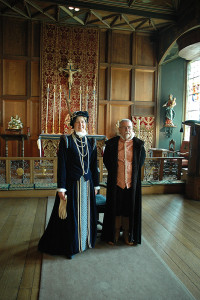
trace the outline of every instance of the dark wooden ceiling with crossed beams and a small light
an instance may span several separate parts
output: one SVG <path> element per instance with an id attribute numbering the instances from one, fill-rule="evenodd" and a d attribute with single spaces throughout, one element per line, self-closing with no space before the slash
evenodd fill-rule
<path id="1" fill-rule="evenodd" d="M 158 33 L 177 22 L 179 6 L 180 0 L 0 0 L 0 15 Z"/>

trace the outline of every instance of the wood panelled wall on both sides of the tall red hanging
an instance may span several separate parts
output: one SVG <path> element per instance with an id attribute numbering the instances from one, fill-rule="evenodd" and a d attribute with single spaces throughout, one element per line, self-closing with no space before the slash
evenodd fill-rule
<path id="1" fill-rule="evenodd" d="M 0 17 L 0 126 L 19 115 L 30 137 L 25 156 L 39 156 L 40 23 Z M 115 135 L 116 123 L 131 116 L 156 116 L 155 42 L 147 34 L 100 31 L 98 134 Z M 5 156 L 5 141 L 0 140 Z M 9 142 L 17 156 L 17 142 Z"/>

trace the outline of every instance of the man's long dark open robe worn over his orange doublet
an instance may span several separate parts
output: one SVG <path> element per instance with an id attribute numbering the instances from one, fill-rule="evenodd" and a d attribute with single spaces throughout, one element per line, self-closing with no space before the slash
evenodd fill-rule
<path id="1" fill-rule="evenodd" d="M 102 239 L 107 242 L 115 240 L 116 190 L 118 168 L 119 136 L 106 142 L 103 155 L 104 164 L 108 170 L 106 211 L 104 214 Z M 132 196 L 129 215 L 130 241 L 141 244 L 141 167 L 145 160 L 144 142 L 133 138 L 132 164 Z"/>

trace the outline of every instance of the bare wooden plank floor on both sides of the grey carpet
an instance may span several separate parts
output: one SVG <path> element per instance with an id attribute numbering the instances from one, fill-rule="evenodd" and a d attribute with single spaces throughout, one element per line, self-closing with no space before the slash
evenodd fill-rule
<path id="1" fill-rule="evenodd" d="M 0 299 L 36 300 L 47 198 L 0 199 Z M 200 202 L 143 196 L 143 237 L 200 299 Z M 140 246 L 138 246 L 140 247 Z M 173 300 L 173 299 L 169 299 Z"/>

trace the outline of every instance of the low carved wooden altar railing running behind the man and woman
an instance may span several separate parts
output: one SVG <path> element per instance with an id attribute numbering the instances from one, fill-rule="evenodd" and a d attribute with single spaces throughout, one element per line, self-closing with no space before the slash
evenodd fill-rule
<path id="1" fill-rule="evenodd" d="M 142 168 L 142 181 L 181 179 L 182 157 L 148 157 Z M 107 181 L 102 157 L 98 157 L 100 181 Z M 0 184 L 56 184 L 57 157 L 0 157 Z"/>

